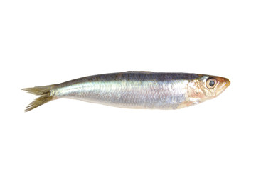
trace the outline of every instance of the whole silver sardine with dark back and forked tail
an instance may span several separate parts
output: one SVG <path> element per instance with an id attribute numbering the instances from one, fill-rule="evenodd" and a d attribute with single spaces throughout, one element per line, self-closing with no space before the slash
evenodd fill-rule
<path id="1" fill-rule="evenodd" d="M 73 98 L 120 108 L 176 109 L 221 94 L 230 81 L 205 74 L 119 72 L 22 89 L 39 95 L 25 111 L 57 98 Z"/>

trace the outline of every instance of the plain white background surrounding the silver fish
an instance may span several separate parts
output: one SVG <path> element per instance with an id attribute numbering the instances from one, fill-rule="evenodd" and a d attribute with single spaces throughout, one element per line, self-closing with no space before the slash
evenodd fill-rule
<path id="1" fill-rule="evenodd" d="M 0 169 L 256 169 L 255 1 L 1 1 Z M 176 111 L 21 88 L 144 70 L 227 77 Z"/>

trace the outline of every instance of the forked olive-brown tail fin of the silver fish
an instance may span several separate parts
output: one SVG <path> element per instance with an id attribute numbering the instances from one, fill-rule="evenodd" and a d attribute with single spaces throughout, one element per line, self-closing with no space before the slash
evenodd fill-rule
<path id="1" fill-rule="evenodd" d="M 21 89 L 21 90 L 27 91 L 28 93 L 31 93 L 31 94 L 40 95 L 40 97 L 36 98 L 33 102 L 31 102 L 26 107 L 25 111 L 26 112 L 31 111 L 32 109 L 37 108 L 38 106 L 41 106 L 44 103 L 47 103 L 48 101 L 53 100 L 53 94 L 50 94 L 50 90 L 53 89 L 53 86 L 55 86 L 55 85 L 36 86 L 36 87 Z"/>

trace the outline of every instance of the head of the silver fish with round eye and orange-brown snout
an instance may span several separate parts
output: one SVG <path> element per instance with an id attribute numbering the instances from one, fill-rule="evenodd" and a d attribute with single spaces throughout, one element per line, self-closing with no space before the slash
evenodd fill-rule
<path id="1" fill-rule="evenodd" d="M 199 75 L 188 82 L 188 98 L 192 103 L 201 103 L 220 95 L 230 85 L 224 77 Z"/>

